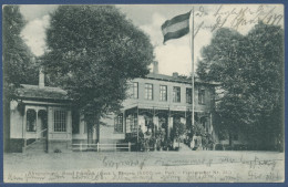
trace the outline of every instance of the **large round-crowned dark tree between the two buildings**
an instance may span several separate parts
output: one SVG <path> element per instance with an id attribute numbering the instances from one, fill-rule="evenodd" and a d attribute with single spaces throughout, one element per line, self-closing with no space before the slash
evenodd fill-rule
<path id="1" fill-rule="evenodd" d="M 84 115 L 92 142 L 100 118 L 121 107 L 127 81 L 148 73 L 150 39 L 112 6 L 60 6 L 47 30 L 45 72 Z"/>

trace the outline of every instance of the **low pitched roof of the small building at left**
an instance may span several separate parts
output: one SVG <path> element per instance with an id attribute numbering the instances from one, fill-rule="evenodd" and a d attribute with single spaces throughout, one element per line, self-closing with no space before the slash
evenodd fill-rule
<path id="1" fill-rule="evenodd" d="M 60 87 L 39 87 L 38 85 L 29 84 L 21 84 L 21 87 L 18 89 L 18 96 L 42 100 L 69 100 L 66 92 Z"/>

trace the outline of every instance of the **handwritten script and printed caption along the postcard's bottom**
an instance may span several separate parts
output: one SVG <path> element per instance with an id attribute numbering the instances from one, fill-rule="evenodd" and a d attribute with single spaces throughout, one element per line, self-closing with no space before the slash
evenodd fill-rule
<path id="1" fill-rule="evenodd" d="M 72 164 L 72 163 L 71 163 Z M 115 160 L 104 156 L 95 168 L 4 170 L 7 183 L 230 183 L 282 181 L 284 159 L 232 158 Z"/>

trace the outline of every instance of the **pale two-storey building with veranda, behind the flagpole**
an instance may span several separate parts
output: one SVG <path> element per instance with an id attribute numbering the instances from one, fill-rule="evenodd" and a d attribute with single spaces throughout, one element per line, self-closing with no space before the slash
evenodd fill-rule
<path id="1" fill-rule="evenodd" d="M 162 128 L 168 137 L 176 122 L 192 123 L 194 102 L 195 121 L 215 136 L 215 85 L 195 80 L 192 101 L 192 80 L 178 76 L 177 73 L 172 76 L 151 73 L 145 79 L 135 79 L 130 83 L 130 98 L 124 101 L 122 113 L 115 117 L 114 129 L 124 134 L 125 138 L 138 138 L 140 131 L 145 133 L 153 131 L 151 127 Z"/>

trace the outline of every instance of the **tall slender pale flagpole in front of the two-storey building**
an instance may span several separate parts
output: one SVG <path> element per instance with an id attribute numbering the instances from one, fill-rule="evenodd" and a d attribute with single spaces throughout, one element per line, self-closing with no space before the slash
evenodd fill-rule
<path id="1" fill-rule="evenodd" d="M 192 62 L 192 126 L 194 126 L 194 7 L 192 9 L 191 13 L 191 27 L 189 27 L 189 32 L 191 32 L 191 62 Z"/>

